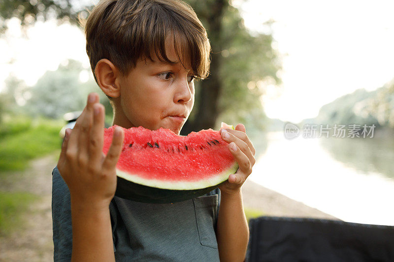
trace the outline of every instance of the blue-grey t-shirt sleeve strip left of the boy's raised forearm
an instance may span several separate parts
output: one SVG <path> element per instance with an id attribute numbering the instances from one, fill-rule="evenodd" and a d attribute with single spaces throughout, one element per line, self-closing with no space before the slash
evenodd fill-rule
<path id="1" fill-rule="evenodd" d="M 71 260 L 72 227 L 70 192 L 57 167 L 52 171 L 53 260 Z"/>

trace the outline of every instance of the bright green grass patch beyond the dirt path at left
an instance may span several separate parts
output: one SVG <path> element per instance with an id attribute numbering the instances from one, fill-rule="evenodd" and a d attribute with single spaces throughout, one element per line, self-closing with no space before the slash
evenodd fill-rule
<path id="1" fill-rule="evenodd" d="M 20 117 L 0 126 L 0 171 L 24 170 L 29 160 L 61 147 L 61 120 Z"/>

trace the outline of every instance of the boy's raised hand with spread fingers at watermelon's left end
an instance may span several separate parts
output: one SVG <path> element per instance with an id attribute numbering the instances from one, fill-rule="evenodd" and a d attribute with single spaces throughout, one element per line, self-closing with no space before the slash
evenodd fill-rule
<path id="1" fill-rule="evenodd" d="M 123 143 L 123 130 L 117 128 L 111 147 L 102 152 L 104 107 L 99 95 L 90 93 L 88 103 L 74 128 L 66 129 L 58 169 L 75 203 L 108 208 L 116 190 L 115 166 Z"/>

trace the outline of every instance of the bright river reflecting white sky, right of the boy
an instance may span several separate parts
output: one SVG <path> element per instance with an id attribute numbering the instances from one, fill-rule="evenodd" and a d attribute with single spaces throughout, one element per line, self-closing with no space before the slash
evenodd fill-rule
<path id="1" fill-rule="evenodd" d="M 392 137 L 264 139 L 248 179 L 347 222 L 394 226 Z"/>

